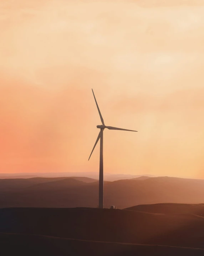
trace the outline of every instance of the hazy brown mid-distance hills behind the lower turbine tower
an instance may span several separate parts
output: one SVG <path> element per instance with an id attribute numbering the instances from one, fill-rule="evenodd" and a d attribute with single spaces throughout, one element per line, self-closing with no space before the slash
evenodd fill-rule
<path id="1" fill-rule="evenodd" d="M 104 207 L 203 203 L 204 180 L 173 177 L 104 182 Z M 3 207 L 97 207 L 98 181 L 87 177 L 0 179 Z"/>

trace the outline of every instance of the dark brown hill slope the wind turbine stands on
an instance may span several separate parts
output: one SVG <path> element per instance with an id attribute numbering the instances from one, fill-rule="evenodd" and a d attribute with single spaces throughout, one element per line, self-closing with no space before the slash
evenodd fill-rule
<path id="1" fill-rule="evenodd" d="M 204 248 L 204 217 L 97 208 L 4 208 L 0 232 Z"/>

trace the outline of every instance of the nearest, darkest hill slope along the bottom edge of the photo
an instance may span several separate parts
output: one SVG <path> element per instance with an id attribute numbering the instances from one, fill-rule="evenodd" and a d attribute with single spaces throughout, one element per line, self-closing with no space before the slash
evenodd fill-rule
<path id="1" fill-rule="evenodd" d="M 39 235 L 0 233 L 1 253 L 4 256 L 203 256 L 203 249 L 137 245 L 128 243 L 95 242 Z"/>

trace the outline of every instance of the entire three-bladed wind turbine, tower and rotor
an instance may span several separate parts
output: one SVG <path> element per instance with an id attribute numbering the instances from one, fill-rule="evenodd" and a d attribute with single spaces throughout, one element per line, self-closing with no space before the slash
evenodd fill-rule
<path id="1" fill-rule="evenodd" d="M 92 89 L 92 92 L 93 92 L 93 89 Z M 93 97 L 96 101 L 96 97 L 95 97 L 94 93 L 93 93 Z M 103 131 L 105 128 L 107 128 L 109 130 L 122 130 L 122 131 L 133 131 L 133 130 L 127 130 L 127 129 L 117 128 L 117 127 L 112 127 L 112 126 L 105 126 L 103 117 L 101 115 L 100 109 L 97 104 L 97 101 L 96 101 L 96 106 L 98 108 L 98 113 L 100 115 L 102 125 L 97 125 L 97 128 L 100 129 L 100 132 L 98 134 L 96 143 L 93 146 L 93 149 L 91 151 L 91 155 L 93 153 L 93 150 L 95 149 L 96 144 L 98 143 L 98 140 L 100 139 L 99 203 L 98 203 L 98 207 L 103 208 Z M 90 157 L 91 157 L 91 155 L 90 155 Z M 89 159 L 90 159 L 90 157 L 89 157 Z"/>

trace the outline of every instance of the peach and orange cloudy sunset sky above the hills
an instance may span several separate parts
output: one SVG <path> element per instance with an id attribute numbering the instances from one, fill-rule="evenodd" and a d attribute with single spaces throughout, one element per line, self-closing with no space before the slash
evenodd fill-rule
<path id="1" fill-rule="evenodd" d="M 201 0 L 0 0 L 0 172 L 204 178 Z"/>

